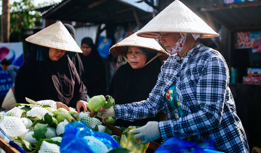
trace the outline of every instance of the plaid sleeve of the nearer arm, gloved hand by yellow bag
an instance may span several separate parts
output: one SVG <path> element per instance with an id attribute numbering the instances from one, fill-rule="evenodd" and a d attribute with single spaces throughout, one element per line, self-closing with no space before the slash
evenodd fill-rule
<path id="1" fill-rule="evenodd" d="M 225 102 L 229 72 L 224 59 L 219 55 L 209 57 L 201 71 L 195 87 L 196 102 L 201 110 L 181 117 L 178 120 L 160 121 L 159 131 L 163 139 L 180 139 L 199 135 L 214 129 L 220 124 Z"/>

